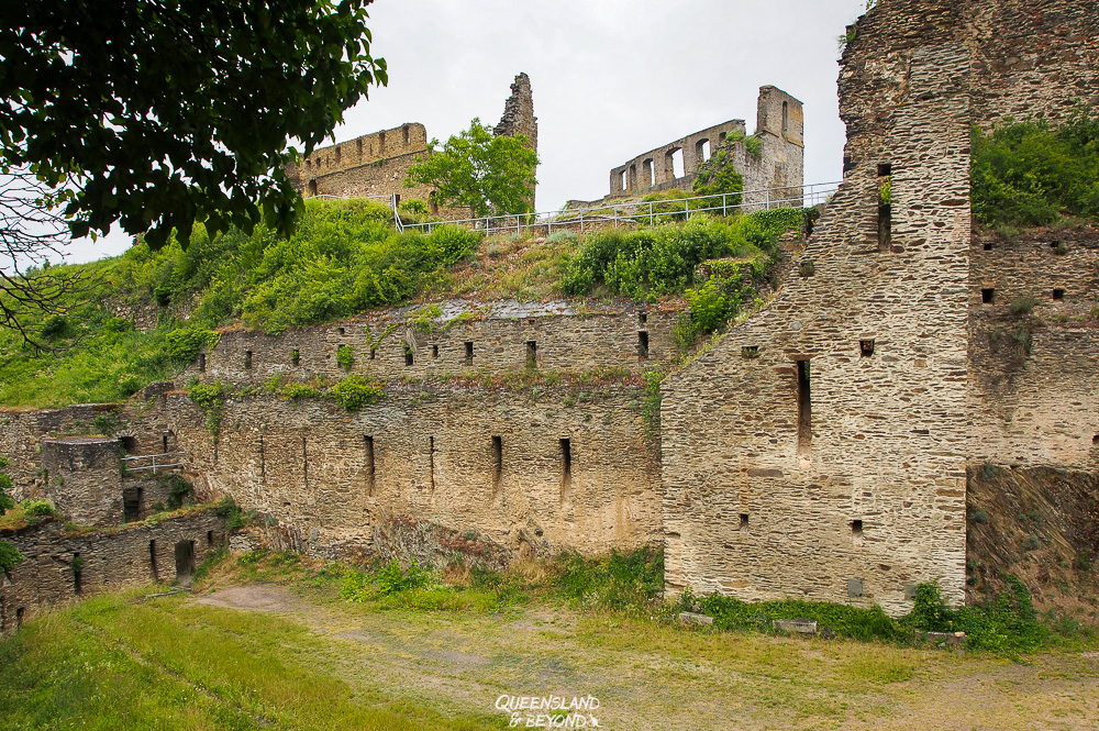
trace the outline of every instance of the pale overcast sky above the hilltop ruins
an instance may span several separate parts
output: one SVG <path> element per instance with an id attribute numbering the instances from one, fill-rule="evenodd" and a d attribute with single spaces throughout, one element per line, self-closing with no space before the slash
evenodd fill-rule
<path id="1" fill-rule="evenodd" d="M 836 37 L 865 0 L 376 0 L 389 86 L 345 114 L 337 142 L 420 122 L 445 141 L 495 125 L 520 71 L 539 118 L 539 211 L 609 192 L 636 155 L 731 119 L 755 129 L 761 86 L 804 102 L 806 182 L 839 180 Z M 70 262 L 121 253 L 112 234 Z"/>

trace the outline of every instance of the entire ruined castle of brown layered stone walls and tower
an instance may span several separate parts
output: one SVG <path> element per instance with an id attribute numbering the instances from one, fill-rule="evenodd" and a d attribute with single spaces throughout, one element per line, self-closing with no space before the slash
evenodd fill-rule
<path id="1" fill-rule="evenodd" d="M 975 232 L 969 190 L 972 125 L 1025 114 L 1056 124 L 1081 100 L 1099 103 L 1099 16 L 1083 0 L 879 0 L 847 38 L 845 177 L 796 252 L 801 276 L 673 370 L 658 420 L 641 374 L 671 365 L 677 312 L 447 302 L 420 334 L 408 308 L 277 336 L 226 332 L 182 376 L 252 387 L 225 401 L 220 434 L 166 387 L 111 407 L 134 453 L 162 450 L 170 433 L 200 491 L 257 510 L 278 545 L 323 556 L 498 566 L 657 542 L 673 592 L 900 614 L 918 584 L 937 580 L 963 602 L 981 465 L 1099 469 L 1099 331 L 1088 319 L 1099 236 Z M 761 129 L 797 151 L 784 175 L 800 179 L 800 104 L 764 91 Z M 417 146 L 413 132 L 398 143 Z M 675 146 L 696 154 L 700 139 L 614 168 L 612 190 L 634 189 L 632 165 L 644 180 L 646 159 L 663 165 Z M 309 178 L 317 190 L 368 189 L 354 188 L 362 166 L 346 167 L 347 145 L 354 157 L 356 141 L 318 151 L 333 156 L 333 177 Z M 674 182 L 655 175 L 650 187 Z M 1036 302 L 1032 314 L 1014 311 L 1020 298 Z M 257 388 L 275 375 L 346 373 L 386 379 L 386 398 L 347 413 Z M 524 373 L 552 378 L 532 386 Z M 21 495 L 59 495 L 41 479 L 56 447 L 36 447 L 90 419 L 87 407 L 7 414 L 0 451 L 14 457 Z M 122 500 L 119 486 L 87 484 L 67 498 L 89 503 L 80 509 L 102 509 L 111 490 Z M 62 571 L 47 563 L 27 571 Z M 0 595 L 7 617 L 32 582 L 15 571 Z"/>

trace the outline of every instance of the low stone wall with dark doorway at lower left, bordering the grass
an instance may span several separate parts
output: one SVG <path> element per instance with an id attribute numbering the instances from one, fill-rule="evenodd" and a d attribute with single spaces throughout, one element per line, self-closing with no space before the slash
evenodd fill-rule
<path id="1" fill-rule="evenodd" d="M 67 533 L 59 521 L 47 520 L 2 531 L 0 539 L 24 556 L 0 575 L 0 633 L 10 633 L 41 609 L 79 596 L 154 582 L 190 584 L 207 554 L 225 545 L 226 533 L 224 520 L 198 512 L 85 534 Z M 189 555 L 180 552 L 177 566 L 180 543 L 192 549 Z"/>

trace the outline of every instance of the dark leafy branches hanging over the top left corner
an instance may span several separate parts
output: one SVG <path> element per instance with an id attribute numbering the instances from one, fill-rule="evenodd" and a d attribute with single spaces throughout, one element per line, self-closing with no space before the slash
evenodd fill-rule
<path id="1" fill-rule="evenodd" d="M 370 2 L 2 2 L 0 164 L 67 191 L 76 237 L 288 231 L 288 140 L 308 154 L 387 81 Z"/>

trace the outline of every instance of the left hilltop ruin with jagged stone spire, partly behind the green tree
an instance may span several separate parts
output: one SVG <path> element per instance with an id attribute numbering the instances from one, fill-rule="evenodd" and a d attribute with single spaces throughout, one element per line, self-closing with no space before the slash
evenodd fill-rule
<path id="1" fill-rule="evenodd" d="M 511 97 L 504 104 L 503 117 L 493 130 L 497 136 L 525 135 L 530 147 L 537 152 L 539 120 L 534 115 L 531 79 L 520 74 L 511 85 Z M 431 188 L 404 187 L 404 176 L 418 156 L 428 155 L 428 130 L 418 122 L 408 122 L 391 130 L 365 134 L 348 142 L 314 149 L 301 165 L 288 165 L 287 176 L 306 198 L 402 197 L 429 200 Z M 432 213 L 446 218 L 464 218 L 468 211 L 440 210 Z"/>

